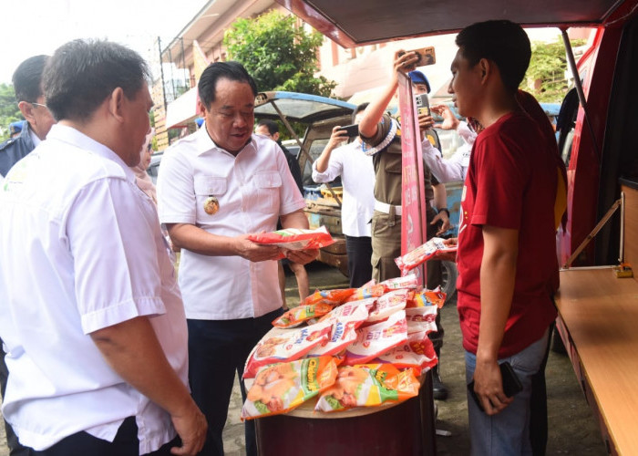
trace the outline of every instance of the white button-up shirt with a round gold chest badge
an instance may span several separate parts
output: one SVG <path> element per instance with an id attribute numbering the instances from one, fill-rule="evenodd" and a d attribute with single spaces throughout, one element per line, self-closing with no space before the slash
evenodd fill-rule
<path id="1" fill-rule="evenodd" d="M 219 202 L 215 213 L 204 210 L 209 197 Z M 304 207 L 283 151 L 261 135 L 252 135 L 235 157 L 217 147 L 201 128 L 171 146 L 162 158 L 161 223 L 190 223 L 208 233 L 234 237 L 274 231 L 280 215 Z M 250 318 L 283 305 L 276 261 L 253 263 L 241 256 L 182 249 L 179 281 L 187 318 Z"/>

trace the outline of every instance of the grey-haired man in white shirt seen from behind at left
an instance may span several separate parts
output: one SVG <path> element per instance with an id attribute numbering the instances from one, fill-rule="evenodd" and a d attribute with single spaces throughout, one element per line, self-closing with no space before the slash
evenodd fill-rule
<path id="1" fill-rule="evenodd" d="M 167 243 L 129 170 L 148 77 L 107 41 L 57 49 L 44 86 L 59 123 L 0 191 L 3 414 L 36 455 L 194 455 L 205 438 Z"/>

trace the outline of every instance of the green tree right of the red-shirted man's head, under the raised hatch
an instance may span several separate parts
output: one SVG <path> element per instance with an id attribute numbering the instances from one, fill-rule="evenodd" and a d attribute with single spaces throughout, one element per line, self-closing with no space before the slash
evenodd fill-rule
<path id="1" fill-rule="evenodd" d="M 571 41 L 571 47 L 581 46 L 582 40 Z M 565 71 L 567 56 L 562 41 L 531 44 L 530 67 L 520 88 L 530 91 L 540 102 L 560 103 L 568 90 Z"/>

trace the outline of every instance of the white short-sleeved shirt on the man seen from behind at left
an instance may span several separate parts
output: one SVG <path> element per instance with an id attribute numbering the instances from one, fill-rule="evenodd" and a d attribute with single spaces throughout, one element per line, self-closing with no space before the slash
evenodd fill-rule
<path id="1" fill-rule="evenodd" d="M 21 443 L 44 450 L 80 430 L 112 441 L 129 416 L 141 454 L 174 438 L 89 336 L 136 316 L 151 316 L 186 385 L 186 320 L 153 203 L 112 150 L 55 125 L 0 189 L 2 411 Z"/>

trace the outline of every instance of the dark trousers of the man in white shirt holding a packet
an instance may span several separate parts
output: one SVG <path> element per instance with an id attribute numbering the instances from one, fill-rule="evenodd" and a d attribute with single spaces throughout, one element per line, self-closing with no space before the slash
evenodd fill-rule
<path id="1" fill-rule="evenodd" d="M 208 434 L 201 455 L 223 455 L 221 431 L 226 423 L 235 372 L 240 378 L 252 347 L 273 327 L 283 309 L 258 318 L 187 320 L 189 326 L 189 380 L 193 399 L 206 415 Z M 254 421 L 244 422 L 246 454 L 257 455 Z"/>

